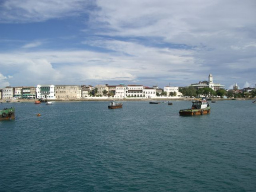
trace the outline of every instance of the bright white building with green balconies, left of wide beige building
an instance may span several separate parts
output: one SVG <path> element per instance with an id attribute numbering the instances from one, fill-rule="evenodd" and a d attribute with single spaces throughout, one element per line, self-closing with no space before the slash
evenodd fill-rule
<path id="1" fill-rule="evenodd" d="M 37 85 L 36 98 L 55 100 L 55 85 Z"/>

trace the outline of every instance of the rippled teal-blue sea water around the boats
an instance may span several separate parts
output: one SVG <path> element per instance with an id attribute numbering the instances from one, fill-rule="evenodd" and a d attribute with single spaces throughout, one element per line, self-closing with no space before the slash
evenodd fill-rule
<path id="1" fill-rule="evenodd" d="M 256 191 L 256 104 L 172 103 L 1 104 L 0 191 Z"/>

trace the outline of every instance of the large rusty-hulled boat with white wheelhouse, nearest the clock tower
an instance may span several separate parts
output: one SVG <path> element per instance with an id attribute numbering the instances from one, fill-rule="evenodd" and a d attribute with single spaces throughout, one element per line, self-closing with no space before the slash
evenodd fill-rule
<path id="1" fill-rule="evenodd" d="M 180 116 L 197 116 L 210 114 L 210 105 L 206 99 L 192 101 L 192 107 L 179 111 Z"/>

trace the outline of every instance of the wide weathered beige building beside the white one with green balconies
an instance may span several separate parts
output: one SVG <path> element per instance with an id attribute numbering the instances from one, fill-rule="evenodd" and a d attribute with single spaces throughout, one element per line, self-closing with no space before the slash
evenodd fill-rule
<path id="1" fill-rule="evenodd" d="M 79 85 L 55 85 L 55 98 L 72 100 L 82 98 L 82 90 Z"/>

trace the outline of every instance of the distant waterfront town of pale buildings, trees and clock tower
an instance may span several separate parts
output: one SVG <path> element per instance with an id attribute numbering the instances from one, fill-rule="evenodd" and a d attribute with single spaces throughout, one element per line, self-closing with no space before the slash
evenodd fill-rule
<path id="1" fill-rule="evenodd" d="M 171 99 L 183 97 L 207 98 L 255 98 L 256 89 L 238 89 L 235 83 L 233 89 L 226 90 L 224 85 L 213 83 L 212 74 L 209 81 L 200 81 L 188 87 L 145 85 L 37 85 L 37 87 L 5 87 L 0 89 L 1 100 L 81 100 L 93 98 L 146 98 Z"/>

